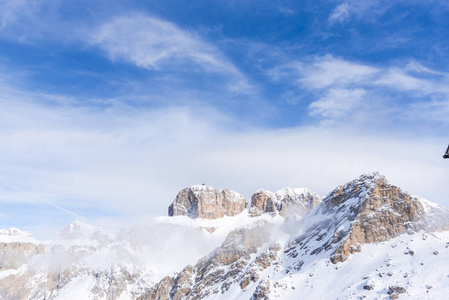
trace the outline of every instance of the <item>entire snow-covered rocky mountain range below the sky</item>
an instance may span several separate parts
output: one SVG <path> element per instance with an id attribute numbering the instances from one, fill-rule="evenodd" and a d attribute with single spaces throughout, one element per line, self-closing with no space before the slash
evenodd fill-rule
<path id="1" fill-rule="evenodd" d="M 449 294 L 449 210 L 378 173 L 324 198 L 287 188 L 258 190 L 246 208 L 242 203 L 236 192 L 194 186 L 176 197 L 175 216 L 115 236 L 79 221 L 47 242 L 18 229 L 0 231 L 0 299 Z"/>

